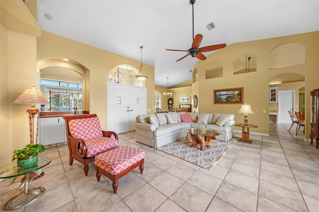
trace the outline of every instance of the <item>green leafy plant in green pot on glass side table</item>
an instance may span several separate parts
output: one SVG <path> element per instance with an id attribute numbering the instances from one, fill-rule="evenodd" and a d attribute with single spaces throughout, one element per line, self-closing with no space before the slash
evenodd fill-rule
<path id="1" fill-rule="evenodd" d="M 38 161 L 38 153 L 44 151 L 44 145 L 28 143 L 23 149 L 13 151 L 12 161 L 17 159 L 19 167 L 30 166 Z"/>

